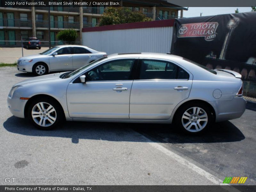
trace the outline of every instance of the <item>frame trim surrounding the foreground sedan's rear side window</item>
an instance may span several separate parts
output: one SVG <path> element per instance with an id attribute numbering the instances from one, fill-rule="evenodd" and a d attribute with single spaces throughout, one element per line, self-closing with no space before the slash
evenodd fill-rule
<path id="1" fill-rule="evenodd" d="M 141 60 L 156 60 L 156 61 L 164 61 L 164 62 L 171 62 L 175 65 L 177 65 L 178 67 L 182 68 L 184 71 L 186 71 L 189 75 L 188 79 L 140 79 L 140 68 L 141 68 Z M 136 69 L 136 74 L 135 74 L 135 78 L 134 81 L 189 81 L 189 80 L 193 80 L 193 75 L 183 66 L 179 65 L 178 63 L 176 63 L 175 61 L 172 60 L 168 60 L 168 59 L 160 59 L 160 58 L 148 58 L 148 57 L 140 57 L 138 60 L 138 66 Z"/>

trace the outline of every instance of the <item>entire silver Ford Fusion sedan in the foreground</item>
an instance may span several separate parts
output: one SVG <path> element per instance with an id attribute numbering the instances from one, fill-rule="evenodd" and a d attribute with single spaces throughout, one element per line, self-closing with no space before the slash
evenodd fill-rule
<path id="1" fill-rule="evenodd" d="M 8 95 L 12 114 L 41 129 L 67 121 L 175 123 L 188 133 L 242 116 L 241 75 L 160 53 L 114 54 L 73 72 L 34 77 Z"/>

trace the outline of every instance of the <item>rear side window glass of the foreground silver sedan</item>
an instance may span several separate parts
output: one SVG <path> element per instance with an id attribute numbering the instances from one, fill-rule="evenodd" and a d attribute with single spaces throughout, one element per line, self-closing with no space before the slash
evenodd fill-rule
<path id="1" fill-rule="evenodd" d="M 189 79 L 189 75 L 172 62 L 143 59 L 140 62 L 139 79 Z"/>

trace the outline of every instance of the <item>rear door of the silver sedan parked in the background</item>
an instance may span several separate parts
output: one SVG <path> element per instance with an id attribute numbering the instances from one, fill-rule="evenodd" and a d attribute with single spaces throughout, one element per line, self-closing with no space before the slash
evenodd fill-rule
<path id="1" fill-rule="evenodd" d="M 73 69 L 78 69 L 86 64 L 92 57 L 92 53 L 83 47 L 73 47 Z"/>

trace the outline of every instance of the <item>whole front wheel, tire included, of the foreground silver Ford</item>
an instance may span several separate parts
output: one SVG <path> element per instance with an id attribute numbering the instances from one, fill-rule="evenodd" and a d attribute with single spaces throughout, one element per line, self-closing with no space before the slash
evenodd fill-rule
<path id="1" fill-rule="evenodd" d="M 33 100 L 28 107 L 30 122 L 42 130 L 51 130 L 63 122 L 63 110 L 58 102 L 50 98 Z"/>

